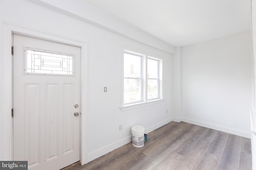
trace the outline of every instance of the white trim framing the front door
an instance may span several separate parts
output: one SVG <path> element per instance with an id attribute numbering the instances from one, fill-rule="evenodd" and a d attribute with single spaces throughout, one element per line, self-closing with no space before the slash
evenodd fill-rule
<path id="1" fill-rule="evenodd" d="M 12 34 L 26 35 L 57 43 L 74 45 L 81 48 L 81 126 L 80 162 L 87 163 L 87 58 L 88 44 L 82 41 L 20 27 L 0 21 L 0 160 L 12 160 Z M 14 111 L 15 116 L 15 111 Z"/>

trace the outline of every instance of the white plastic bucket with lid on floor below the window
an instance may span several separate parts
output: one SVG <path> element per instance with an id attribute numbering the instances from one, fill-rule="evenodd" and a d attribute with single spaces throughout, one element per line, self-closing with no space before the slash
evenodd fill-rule
<path id="1" fill-rule="evenodd" d="M 144 146 L 144 133 L 145 128 L 143 126 L 136 125 L 132 127 L 132 145 L 134 147 Z"/>

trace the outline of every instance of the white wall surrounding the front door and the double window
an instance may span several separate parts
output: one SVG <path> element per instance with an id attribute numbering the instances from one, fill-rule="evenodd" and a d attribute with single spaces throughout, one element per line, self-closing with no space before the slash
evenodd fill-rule
<path id="1" fill-rule="evenodd" d="M 131 141 L 131 127 L 142 125 L 146 132 L 152 131 L 171 121 L 171 76 L 172 55 L 165 51 L 139 43 L 127 37 L 122 37 L 111 31 L 90 25 L 85 21 L 72 18 L 50 8 L 46 8 L 28 0 L 1 0 L 0 20 L 24 27 L 82 41 L 88 43 L 88 117 L 87 117 L 87 153 L 88 161 L 105 154 Z M 3 34 L 1 26 L 0 35 Z M 144 39 L 146 41 L 146 39 Z M 140 40 L 141 41 L 141 40 Z M 2 42 L 2 41 L 1 41 Z M 4 45 L 0 46 L 1 48 Z M 120 110 L 121 88 L 120 64 L 122 64 L 122 49 L 130 47 L 146 51 L 152 56 L 163 57 L 163 92 L 162 103 L 140 107 L 128 111 Z M 170 46 L 171 47 L 171 46 Z M 2 51 L 3 49 L 0 49 Z M 0 61 L 3 61 L 0 53 Z M 3 64 L 0 64 L 0 82 L 4 83 Z M 108 92 L 104 92 L 104 87 Z M 4 93 L 1 89 L 0 94 Z M 5 99 L 0 98 L 0 160 L 10 160 L 11 144 L 6 144 L 10 138 L 9 112 L 2 105 Z M 10 101 L 7 101 L 10 106 Z M 7 115 L 7 116 L 6 116 Z M 7 118 L 6 118 L 7 117 Z M 11 119 L 10 119 L 11 120 Z M 4 122 L 7 122 L 4 124 Z M 118 131 L 118 126 L 123 130 Z M 7 128 L 8 129 L 8 128 Z M 7 133 L 7 134 L 6 134 Z M 150 138 L 150 137 L 149 137 Z"/>

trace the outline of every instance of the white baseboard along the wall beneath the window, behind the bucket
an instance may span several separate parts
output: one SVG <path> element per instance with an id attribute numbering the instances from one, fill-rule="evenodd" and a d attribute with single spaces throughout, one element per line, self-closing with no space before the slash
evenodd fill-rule
<path id="1" fill-rule="evenodd" d="M 155 125 L 152 125 L 152 126 L 146 128 L 145 133 L 149 133 L 151 131 L 154 131 L 155 129 L 157 129 L 157 128 L 159 128 L 159 127 L 161 127 L 161 126 L 163 126 L 163 125 L 165 125 L 165 124 L 167 124 L 171 121 L 172 121 L 172 118 L 168 118 L 164 121 L 156 123 Z M 131 141 L 132 141 L 132 136 L 128 136 L 124 139 L 121 139 L 120 141 L 116 141 L 116 142 L 114 142 L 110 145 L 107 145 L 106 147 L 95 150 L 94 152 L 91 152 L 91 153 L 88 154 L 87 163 L 96 159 L 96 158 L 98 158 L 98 157 L 100 157 L 100 156 L 102 156 L 102 155 L 104 155 L 104 154 L 106 154 L 106 153 L 108 153 L 108 152 L 111 152 L 112 150 L 115 150 L 119 147 L 122 147 L 123 145 L 126 145 L 127 143 L 129 143 Z"/>

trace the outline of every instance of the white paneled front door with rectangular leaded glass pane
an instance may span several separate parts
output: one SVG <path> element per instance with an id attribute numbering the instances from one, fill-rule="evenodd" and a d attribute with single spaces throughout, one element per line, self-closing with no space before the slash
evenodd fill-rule
<path id="1" fill-rule="evenodd" d="M 13 46 L 13 159 L 32 170 L 79 161 L 81 49 L 16 34 Z"/>

